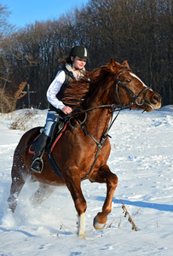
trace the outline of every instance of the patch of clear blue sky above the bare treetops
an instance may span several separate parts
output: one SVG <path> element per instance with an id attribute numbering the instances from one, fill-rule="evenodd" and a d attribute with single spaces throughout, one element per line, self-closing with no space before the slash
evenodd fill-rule
<path id="1" fill-rule="evenodd" d="M 12 13 L 9 23 L 17 27 L 37 21 L 58 19 L 70 12 L 74 7 L 80 8 L 89 0 L 0 0 Z"/>

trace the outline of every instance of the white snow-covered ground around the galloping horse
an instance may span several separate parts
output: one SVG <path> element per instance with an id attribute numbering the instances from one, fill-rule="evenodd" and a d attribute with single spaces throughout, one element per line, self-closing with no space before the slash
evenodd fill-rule
<path id="1" fill-rule="evenodd" d="M 9 130 L 20 110 L 0 115 L 0 255 L 173 255 L 173 106 L 152 113 L 122 111 L 110 135 L 108 160 L 118 188 L 104 230 L 93 218 L 105 200 L 106 185 L 84 181 L 88 203 L 86 240 L 77 236 L 77 213 L 66 187 L 33 208 L 29 199 L 37 183 L 26 183 L 13 216 L 7 213 L 14 148 L 25 131 Z M 34 111 L 34 110 L 30 110 Z M 26 129 L 44 125 L 46 110 L 37 111 Z M 124 218 L 121 200 L 138 231 Z"/>

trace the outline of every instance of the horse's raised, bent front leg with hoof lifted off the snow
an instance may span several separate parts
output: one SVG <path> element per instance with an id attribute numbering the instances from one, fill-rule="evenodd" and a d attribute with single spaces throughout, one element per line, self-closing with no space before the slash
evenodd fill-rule
<path id="1" fill-rule="evenodd" d="M 102 212 L 98 212 L 94 218 L 95 230 L 102 230 L 107 223 L 107 215 L 112 209 L 112 198 L 114 191 L 118 185 L 118 177 L 112 173 L 109 167 L 101 166 L 101 168 L 92 174 L 89 178 L 90 182 L 107 183 L 107 197 L 102 207 Z"/>

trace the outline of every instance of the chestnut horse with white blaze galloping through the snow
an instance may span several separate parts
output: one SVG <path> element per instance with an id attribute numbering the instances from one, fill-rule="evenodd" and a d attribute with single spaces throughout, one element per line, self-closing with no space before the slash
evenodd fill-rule
<path id="1" fill-rule="evenodd" d="M 147 112 L 161 107 L 161 96 L 148 88 L 130 70 L 127 61 L 122 65 L 111 59 L 110 63 L 86 73 L 83 79 L 72 82 L 66 90 L 65 102 L 80 109 L 78 118 L 67 125 L 66 131 L 55 144 L 52 156 L 61 171 L 55 174 L 48 154 L 43 155 L 43 172 L 29 172 L 32 155 L 26 145 L 40 133 L 40 127 L 27 131 L 14 151 L 12 184 L 9 195 L 9 209 L 14 212 L 17 197 L 32 175 L 39 182 L 39 188 L 32 196 L 34 204 L 40 204 L 53 193 L 56 186 L 66 184 L 78 212 L 78 237 L 84 238 L 86 201 L 81 189 L 85 178 L 91 183 L 106 183 L 107 196 L 101 212 L 94 218 L 94 227 L 101 230 L 111 212 L 112 197 L 118 185 L 118 177 L 107 166 L 111 150 L 108 131 L 112 126 L 112 113 L 117 109 L 141 108 Z M 73 125 L 73 126 L 72 126 Z M 22 150 L 22 148 L 25 148 Z"/>

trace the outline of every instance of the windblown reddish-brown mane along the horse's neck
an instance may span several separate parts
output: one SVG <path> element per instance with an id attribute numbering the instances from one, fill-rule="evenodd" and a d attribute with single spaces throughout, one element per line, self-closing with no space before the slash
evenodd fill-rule
<path id="1" fill-rule="evenodd" d="M 124 68 L 118 62 L 115 63 L 119 67 L 118 70 Z M 65 91 L 63 102 L 72 107 L 84 108 L 85 102 L 87 102 L 90 96 L 94 95 L 101 84 L 104 84 L 105 79 L 108 79 L 111 73 L 112 77 L 114 77 L 116 72 L 112 72 L 110 63 L 97 67 L 91 72 L 85 71 L 81 79 L 74 80 L 69 84 Z"/>

